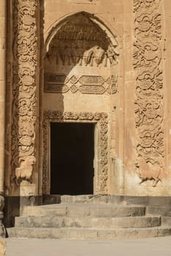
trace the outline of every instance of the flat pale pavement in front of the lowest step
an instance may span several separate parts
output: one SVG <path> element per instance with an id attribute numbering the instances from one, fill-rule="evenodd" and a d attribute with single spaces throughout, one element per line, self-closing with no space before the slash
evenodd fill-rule
<path id="1" fill-rule="evenodd" d="M 171 236 L 113 241 L 7 238 L 6 256 L 171 256 Z"/>

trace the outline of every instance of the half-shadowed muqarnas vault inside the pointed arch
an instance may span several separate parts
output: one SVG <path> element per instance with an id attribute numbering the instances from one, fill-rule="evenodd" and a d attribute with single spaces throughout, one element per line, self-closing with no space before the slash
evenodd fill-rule
<path id="1" fill-rule="evenodd" d="M 98 67 L 117 64 L 117 44 L 113 45 L 105 31 L 85 13 L 66 20 L 50 42 L 47 59 L 56 64 Z"/>

